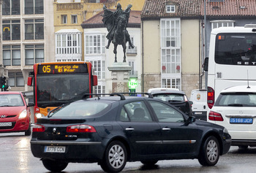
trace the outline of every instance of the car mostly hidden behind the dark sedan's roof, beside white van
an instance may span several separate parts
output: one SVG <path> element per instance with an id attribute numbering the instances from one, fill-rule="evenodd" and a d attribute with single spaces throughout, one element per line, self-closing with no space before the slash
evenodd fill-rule
<path id="1" fill-rule="evenodd" d="M 167 101 L 173 106 L 178 107 L 185 114 L 192 115 L 193 102 L 187 99 L 183 91 L 179 91 L 176 88 L 151 88 L 148 90 L 148 93 L 151 93 L 154 99 Z"/>

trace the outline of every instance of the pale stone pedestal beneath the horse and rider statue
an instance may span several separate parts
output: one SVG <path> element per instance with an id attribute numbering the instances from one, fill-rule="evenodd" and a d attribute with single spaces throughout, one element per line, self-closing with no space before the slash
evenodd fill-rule
<path id="1" fill-rule="evenodd" d="M 128 93 L 129 71 L 132 70 L 132 66 L 128 63 L 113 63 L 108 70 L 111 72 L 112 93 Z"/>

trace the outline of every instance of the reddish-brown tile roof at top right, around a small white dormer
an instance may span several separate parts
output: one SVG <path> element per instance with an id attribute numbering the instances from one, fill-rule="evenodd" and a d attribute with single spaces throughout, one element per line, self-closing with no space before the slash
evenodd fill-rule
<path id="1" fill-rule="evenodd" d="M 176 3 L 176 12 L 165 12 L 165 3 Z M 204 15 L 204 0 L 146 0 L 141 18 L 202 18 Z M 256 18 L 255 0 L 224 0 L 222 2 L 206 0 L 208 17 L 240 17 Z"/>

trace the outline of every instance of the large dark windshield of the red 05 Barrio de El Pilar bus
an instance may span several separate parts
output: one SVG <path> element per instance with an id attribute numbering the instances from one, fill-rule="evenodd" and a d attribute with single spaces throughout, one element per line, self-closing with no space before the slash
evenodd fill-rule
<path id="1" fill-rule="evenodd" d="M 89 93 L 89 74 L 37 75 L 38 107 L 56 107 Z"/>

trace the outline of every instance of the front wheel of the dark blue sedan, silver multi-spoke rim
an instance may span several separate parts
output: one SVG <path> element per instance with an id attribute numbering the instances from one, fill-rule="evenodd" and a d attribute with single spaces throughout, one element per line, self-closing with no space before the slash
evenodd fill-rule
<path id="1" fill-rule="evenodd" d="M 219 142 L 216 137 L 208 137 L 203 143 L 198 161 L 203 166 L 214 166 L 219 161 Z"/>

